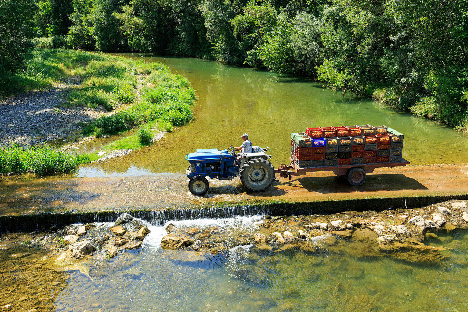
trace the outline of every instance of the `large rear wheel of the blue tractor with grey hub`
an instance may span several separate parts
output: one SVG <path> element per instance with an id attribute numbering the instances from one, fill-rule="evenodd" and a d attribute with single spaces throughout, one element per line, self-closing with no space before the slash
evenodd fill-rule
<path id="1" fill-rule="evenodd" d="M 264 158 L 247 160 L 239 170 L 242 185 L 254 192 L 268 189 L 275 179 L 275 168 Z"/>

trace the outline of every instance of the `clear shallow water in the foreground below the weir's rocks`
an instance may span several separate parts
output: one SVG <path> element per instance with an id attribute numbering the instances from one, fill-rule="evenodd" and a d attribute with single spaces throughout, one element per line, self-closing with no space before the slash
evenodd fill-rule
<path id="1" fill-rule="evenodd" d="M 258 219 L 171 223 L 251 233 Z M 205 258 L 162 250 L 159 244 L 166 231 L 157 226 L 151 230 L 139 250 L 120 253 L 110 261 L 95 257 L 88 264 L 90 277 L 79 271 L 44 273 L 48 283 L 58 278 L 62 282 L 59 288 L 48 288 L 53 303 L 47 306 L 67 312 L 466 311 L 467 230 L 438 232 L 438 238 L 424 242 L 451 248 L 442 251 L 448 258 L 439 265 L 373 256 L 361 252 L 364 246 L 343 239 L 335 246 L 324 245 L 319 254 L 239 246 Z M 316 239 L 320 243 L 321 237 Z M 0 266 L 10 268 L 0 281 L 4 302 L 12 276 L 28 279 L 29 268 L 22 261 L 30 259 L 8 258 L 6 253 L 13 252 L 17 251 L 0 252 Z M 42 285 L 36 278 L 34 283 Z M 31 297 L 22 304 L 35 300 Z"/>

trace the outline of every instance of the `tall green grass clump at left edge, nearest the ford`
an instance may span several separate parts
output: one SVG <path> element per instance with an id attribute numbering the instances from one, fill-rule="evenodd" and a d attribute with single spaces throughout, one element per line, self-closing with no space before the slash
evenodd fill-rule
<path id="1" fill-rule="evenodd" d="M 45 144 L 0 146 L 0 173 L 67 174 L 76 170 L 78 162 L 77 154 L 61 152 Z"/>

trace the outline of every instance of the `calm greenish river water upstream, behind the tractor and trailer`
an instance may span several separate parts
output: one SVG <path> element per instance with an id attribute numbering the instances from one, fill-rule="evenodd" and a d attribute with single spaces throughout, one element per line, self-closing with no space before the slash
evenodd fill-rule
<path id="1" fill-rule="evenodd" d="M 402 132 L 403 157 L 414 165 L 468 162 L 465 135 L 424 118 L 395 112 L 376 101 L 342 97 L 305 79 L 214 61 L 144 59 L 162 62 L 190 80 L 197 90 L 196 120 L 138 154 L 81 167 L 78 175 L 182 173 L 188 167 L 186 154 L 200 148 L 239 146 L 244 132 L 254 145 L 271 148 L 276 167 L 289 163 L 291 132 L 367 123 Z"/>

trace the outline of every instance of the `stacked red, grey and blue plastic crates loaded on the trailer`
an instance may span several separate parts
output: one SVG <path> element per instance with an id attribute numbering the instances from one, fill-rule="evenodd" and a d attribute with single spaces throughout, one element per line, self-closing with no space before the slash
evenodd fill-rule
<path id="1" fill-rule="evenodd" d="M 307 128 L 291 133 L 291 159 L 298 167 L 401 162 L 403 135 L 387 126 Z"/>

